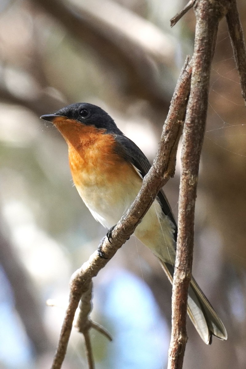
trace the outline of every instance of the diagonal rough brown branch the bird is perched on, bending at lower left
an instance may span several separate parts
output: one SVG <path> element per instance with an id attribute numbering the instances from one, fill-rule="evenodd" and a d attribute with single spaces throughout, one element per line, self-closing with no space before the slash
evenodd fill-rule
<path id="1" fill-rule="evenodd" d="M 136 225 L 151 206 L 160 188 L 167 182 L 170 176 L 174 175 L 177 145 L 182 132 L 187 98 L 190 91 L 190 77 L 191 63 L 188 63 L 187 58 L 174 91 L 156 159 L 145 176 L 143 186 L 134 203 L 112 231 L 112 243 L 108 242 L 107 237 L 104 238 L 102 245 L 108 259 L 101 259 L 97 252 L 94 252 L 89 260 L 71 277 L 69 306 L 67 307 L 60 332 L 52 369 L 61 368 L 72 330 L 75 311 L 80 297 L 90 288 L 91 278 L 97 275 L 99 270 L 107 264 L 126 239 L 134 232 Z"/>

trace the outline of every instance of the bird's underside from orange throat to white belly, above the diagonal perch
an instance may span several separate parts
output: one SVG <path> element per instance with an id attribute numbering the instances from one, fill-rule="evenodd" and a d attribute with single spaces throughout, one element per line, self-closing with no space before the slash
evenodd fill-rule
<path id="1" fill-rule="evenodd" d="M 105 130 L 72 120 L 65 123 L 56 126 L 68 145 L 75 186 L 94 218 L 109 228 L 131 206 L 142 178 L 117 154 L 116 142 Z"/>

